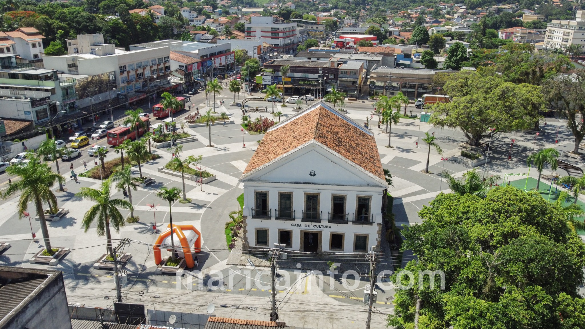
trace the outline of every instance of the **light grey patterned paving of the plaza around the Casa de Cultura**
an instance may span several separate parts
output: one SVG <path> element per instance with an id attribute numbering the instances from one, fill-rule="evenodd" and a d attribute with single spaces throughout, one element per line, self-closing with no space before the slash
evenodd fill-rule
<path id="1" fill-rule="evenodd" d="M 241 99 L 240 95 L 240 99 Z M 123 300 L 129 303 L 143 303 L 147 309 L 163 309 L 183 311 L 186 313 L 205 313 L 208 304 L 216 305 L 214 315 L 222 317 L 249 318 L 267 320 L 270 314 L 270 292 L 269 289 L 249 287 L 246 281 L 257 277 L 257 272 L 263 268 L 253 266 L 228 265 L 229 250 L 226 246 L 224 226 L 229 220 L 228 214 L 239 208 L 236 198 L 242 194 L 238 181 L 247 162 L 256 149 L 258 140 L 262 135 L 242 134 L 240 123 L 242 122 L 239 108 L 229 107 L 228 103 L 233 100 L 233 94 L 223 92 L 216 97 L 216 101 L 225 101 L 225 108 L 218 105 L 217 112 L 229 112 L 235 124 L 214 125 L 211 127 L 211 143 L 208 147 L 209 135 L 207 127 L 185 128 L 185 131 L 197 137 L 196 142 L 184 144 L 181 157 L 190 155 L 203 156 L 201 166 L 214 174 L 217 179 L 209 184 L 197 186 L 194 181 L 185 180 L 187 197 L 191 203 L 173 204 L 173 223 L 177 225 L 194 225 L 202 234 L 202 252 L 198 254 L 199 268 L 201 274 L 198 277 L 212 276 L 214 273 L 221 273 L 225 282 L 232 280 L 233 288 L 220 287 L 221 282 L 216 282 L 218 289 L 211 287 L 198 288 L 188 286 L 185 277 L 156 275 L 152 244 L 157 238 L 153 232 L 152 225 L 155 222 L 159 232 L 166 229 L 169 222 L 168 204 L 156 197 L 156 190 L 160 187 L 181 188 L 180 177 L 160 173 L 157 169 L 164 166 L 171 160 L 171 154 L 166 149 L 153 149 L 153 153 L 160 155 L 157 160 L 147 162 L 142 166 L 142 172 L 148 177 L 156 180 L 156 183 L 147 187 L 139 187 L 132 192 L 135 205 L 135 215 L 140 221 L 135 224 L 126 224 L 119 234 L 112 230 L 114 244 L 121 238 L 129 238 L 129 245 L 123 247 L 123 252 L 132 253 L 132 259 L 125 266 L 128 273 L 128 283 L 123 286 Z M 199 108 L 199 112 L 207 109 L 204 95 L 197 95 L 191 98 L 192 104 Z M 250 107 L 271 105 L 267 102 L 249 102 Z M 288 117 L 295 112 L 292 111 L 294 104 L 282 107 L 275 106 L 274 111 L 283 112 Z M 310 102 L 308 105 L 311 105 Z M 303 105 L 306 107 L 307 105 Z M 358 124 L 363 125 L 366 118 L 371 118 L 370 111 L 373 109 L 370 102 L 346 102 L 348 116 Z M 415 110 L 418 111 L 418 110 Z M 186 115 L 184 113 L 183 115 Z M 270 116 L 270 113 L 250 114 L 252 119 L 257 116 Z M 281 120 L 284 118 L 281 118 Z M 370 119 L 372 120 L 372 119 Z M 277 119 L 275 120 L 277 121 Z M 459 143 L 465 142 L 463 133 L 457 129 L 441 129 L 432 125 L 420 123 L 414 119 L 400 119 L 398 125 L 392 126 L 391 144 L 393 148 L 387 148 L 388 134 L 383 132 L 383 126 L 377 128 L 377 116 L 373 116 L 371 131 L 373 131 L 381 162 L 385 169 L 390 170 L 393 175 L 393 187 L 390 187 L 390 194 L 394 197 L 395 221 L 397 225 L 413 224 L 421 222 L 417 213 L 424 205 L 428 205 L 441 191 L 449 192 L 448 186 L 439 177 L 443 170 L 460 176 L 469 170 L 469 166 L 453 160 L 459 156 Z M 490 157 L 492 162 L 487 166 L 480 166 L 478 170 L 486 170 L 487 174 L 528 173 L 526 157 L 532 149 L 555 147 L 563 152 L 572 150 L 574 141 L 572 134 L 566 128 L 566 121 L 549 119 L 543 126 L 545 133 L 535 139 L 535 135 L 523 132 L 496 133 L 491 140 Z M 556 132 L 558 129 L 558 138 Z M 435 133 L 437 142 L 444 150 L 443 155 L 438 155 L 431 149 L 429 159 L 429 171 L 424 173 L 428 149 L 422 142 L 425 132 Z M 510 150 L 511 140 L 514 139 L 514 146 Z M 555 145 L 555 139 L 558 143 Z M 418 146 L 417 146 L 417 141 Z M 487 140 L 485 140 L 487 142 Z M 245 144 L 245 146 L 244 146 Z M 356 150 L 359 152 L 359 150 Z M 508 160 L 508 155 L 511 159 Z M 113 150 L 108 153 L 107 159 L 117 156 Z M 449 158 L 443 161 L 442 158 Z M 576 160 L 564 158 L 566 162 L 575 166 L 583 167 L 585 164 Z M 83 172 L 82 159 L 75 160 L 76 172 Z M 91 162 L 92 163 L 92 162 Z M 61 165 L 61 163 L 60 163 Z M 54 165 L 51 165 L 54 167 Z M 66 170 L 68 163 L 61 165 L 61 172 Z M 93 165 L 91 165 L 93 166 Z M 88 166 L 89 167 L 89 166 Z M 137 175 L 137 167 L 133 168 Z M 566 173 L 562 169 L 557 170 L 561 176 Z M 549 174 L 550 170 L 545 170 Z M 5 176 L 6 173 L 1 174 Z M 538 173 L 531 170 L 529 176 L 536 179 Z M 39 222 L 34 218 L 19 220 L 16 201 L 18 196 L 11 200 L 2 201 L 0 204 L 0 242 L 9 242 L 11 248 L 3 255 L 0 255 L 2 265 L 23 266 L 27 268 L 51 267 L 63 271 L 67 288 L 67 297 L 70 303 L 85 304 L 86 306 L 110 307 L 115 299 L 115 287 L 111 271 L 95 270 L 92 265 L 99 256 L 105 253 L 105 237 L 98 237 L 96 225 L 92 225 L 87 232 L 81 225 L 81 218 L 91 207 L 89 201 L 82 200 L 75 196 L 81 187 L 98 188 L 100 181 L 79 178 L 75 183 L 66 175 L 67 191 L 57 193 L 59 206 L 66 208 L 70 213 L 60 221 L 49 222 L 49 234 L 53 247 L 70 248 L 69 253 L 57 266 L 35 265 L 28 262 L 28 259 L 43 248 L 42 234 Z M 544 180 L 542 180 L 545 183 Z M 501 183 L 501 181 L 500 181 Z M 548 185 L 546 186 L 548 188 Z M 543 185 L 541 184 L 541 189 Z M 113 197 L 123 198 L 121 191 L 116 191 Z M 584 199 L 585 200 L 585 199 Z M 147 204 L 155 204 L 155 210 Z M 31 214 L 34 207 L 29 205 Z M 123 211 L 123 215 L 128 211 Z M 30 229 L 36 233 L 37 241 L 32 241 Z M 166 251 L 163 251 L 163 257 Z M 405 253 L 404 262 L 412 259 L 412 255 Z M 294 273 L 295 269 L 281 269 L 283 272 Z M 236 272 L 239 271 L 239 272 Z M 305 273 L 306 274 L 306 273 Z M 296 276 L 295 276 L 296 277 Z M 280 320 L 288 325 L 307 328 L 362 328 L 363 320 L 366 318 L 367 307 L 362 301 L 363 288 L 366 285 L 365 277 L 348 277 L 336 279 L 332 282 L 325 277 L 326 284 L 322 289 L 319 287 L 319 277 L 315 275 L 304 275 L 295 284 L 286 290 L 279 290 L 277 300 L 280 304 Z M 356 283 L 354 289 L 345 289 L 341 285 Z M 269 282 L 268 276 L 260 276 L 260 282 Z M 322 282 L 321 282 L 322 283 Z M 194 285 L 194 284 L 193 284 Z M 181 289 L 177 289 L 180 286 Z M 213 284 L 211 285 L 213 286 Z M 386 314 L 393 311 L 391 300 L 393 290 L 381 289 L 378 295 L 378 302 L 374 307 L 373 324 L 376 327 L 385 325 Z M 109 299 L 104 299 L 108 296 Z M 282 302 L 281 302 L 282 301 Z M 220 304 L 229 307 L 218 307 Z"/>

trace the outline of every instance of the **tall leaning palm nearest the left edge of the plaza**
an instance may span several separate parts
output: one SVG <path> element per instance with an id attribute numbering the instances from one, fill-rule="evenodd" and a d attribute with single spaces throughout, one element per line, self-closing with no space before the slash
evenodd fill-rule
<path id="1" fill-rule="evenodd" d="M 51 191 L 51 187 L 56 181 L 64 184 L 65 177 L 52 172 L 47 163 L 40 163 L 39 159 L 34 155 L 30 157 L 30 162 L 25 166 L 8 166 L 6 172 L 10 176 L 20 177 L 20 180 L 15 180 L 8 185 L 8 189 L 2 194 L 2 199 L 6 200 L 20 192 L 18 200 L 19 219 L 28 210 L 29 203 L 35 204 L 37 217 L 39 217 L 41 231 L 43 232 L 44 246 L 47 253 L 53 255 L 49 240 L 49 229 L 47 229 L 47 221 L 44 218 L 43 203 L 49 204 L 51 209 L 57 208 L 57 197 Z"/>

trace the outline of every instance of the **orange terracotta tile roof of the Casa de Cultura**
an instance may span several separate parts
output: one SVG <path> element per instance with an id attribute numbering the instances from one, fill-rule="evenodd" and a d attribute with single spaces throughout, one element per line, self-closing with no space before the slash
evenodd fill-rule
<path id="1" fill-rule="evenodd" d="M 311 140 L 384 180 L 374 135 L 322 102 L 270 128 L 243 174 L 259 169 Z"/>

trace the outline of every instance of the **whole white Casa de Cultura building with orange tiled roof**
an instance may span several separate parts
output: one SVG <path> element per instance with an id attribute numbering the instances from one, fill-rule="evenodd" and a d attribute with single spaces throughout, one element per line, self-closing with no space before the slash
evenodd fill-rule
<path id="1" fill-rule="evenodd" d="M 270 128 L 240 181 L 244 249 L 379 249 L 388 184 L 374 135 L 322 102 Z"/>

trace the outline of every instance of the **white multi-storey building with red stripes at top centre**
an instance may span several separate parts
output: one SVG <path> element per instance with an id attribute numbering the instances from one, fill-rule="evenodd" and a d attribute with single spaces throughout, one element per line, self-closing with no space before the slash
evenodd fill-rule
<path id="1" fill-rule="evenodd" d="M 244 32 L 246 40 L 263 40 L 283 54 L 297 50 L 297 23 L 283 23 L 273 16 L 254 16 L 251 23 L 246 23 Z"/>

